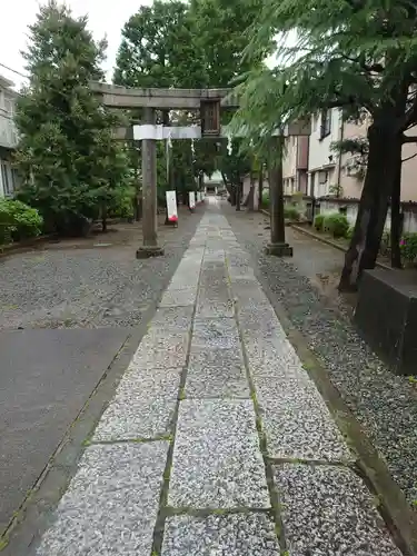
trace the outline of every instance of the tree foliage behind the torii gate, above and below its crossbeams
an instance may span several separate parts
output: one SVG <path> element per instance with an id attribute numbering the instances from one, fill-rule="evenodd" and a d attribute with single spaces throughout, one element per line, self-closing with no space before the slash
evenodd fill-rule
<path id="1" fill-rule="evenodd" d="M 230 87 L 252 63 L 241 58 L 248 46 L 244 30 L 259 6 L 260 0 L 192 0 L 190 4 L 157 0 L 151 7 L 140 8 L 122 30 L 115 82 L 127 87 Z M 173 113 L 172 118 L 197 121 L 191 113 Z M 171 177 L 176 187 L 192 189 L 193 177 L 210 176 L 217 168 L 238 183 L 237 170 L 247 170 L 245 157 L 230 156 L 224 147 L 210 139 L 193 141 L 192 149 L 190 141 L 175 141 Z M 190 153 L 192 166 L 186 169 Z M 160 151 L 159 156 L 165 155 Z"/>

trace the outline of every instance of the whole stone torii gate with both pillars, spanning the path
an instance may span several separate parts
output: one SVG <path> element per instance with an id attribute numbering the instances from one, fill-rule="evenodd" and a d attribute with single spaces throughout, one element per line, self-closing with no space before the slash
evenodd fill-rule
<path id="1" fill-rule="evenodd" d="M 239 101 L 231 89 L 135 89 L 115 85 L 91 82 L 91 90 L 109 108 L 143 109 L 143 123 L 133 126 L 133 139 L 142 141 L 142 235 L 143 245 L 137 250 L 137 258 L 163 255 L 158 244 L 157 230 L 157 150 L 156 141 L 161 139 L 199 139 L 221 137 L 220 109 L 237 109 Z M 200 110 L 201 127 L 166 127 L 156 125 L 156 110 Z M 121 130 L 120 130 L 121 131 Z M 296 121 L 277 129 L 277 147 L 282 147 L 284 137 L 310 135 L 309 121 Z M 119 139 L 128 139 L 126 130 Z M 292 248 L 285 241 L 282 159 L 272 168 L 270 176 L 271 240 L 269 255 L 292 255 Z"/>

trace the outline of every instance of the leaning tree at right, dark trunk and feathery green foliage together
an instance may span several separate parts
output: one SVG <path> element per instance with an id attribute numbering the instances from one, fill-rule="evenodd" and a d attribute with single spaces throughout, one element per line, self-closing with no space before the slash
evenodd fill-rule
<path id="1" fill-rule="evenodd" d="M 371 116 L 367 172 L 341 290 L 355 289 L 364 268 L 375 266 L 389 198 L 398 199 L 401 145 L 415 140 L 404 133 L 417 120 L 416 23 L 416 6 L 408 0 L 266 0 L 252 27 L 249 56 L 257 57 L 278 36 L 276 67 L 254 63 L 235 119 L 236 125 L 245 120 L 252 137 L 260 127 L 267 130 L 260 143 L 277 122 L 325 116 L 332 107 Z M 288 33 L 296 37 L 292 46 Z"/>

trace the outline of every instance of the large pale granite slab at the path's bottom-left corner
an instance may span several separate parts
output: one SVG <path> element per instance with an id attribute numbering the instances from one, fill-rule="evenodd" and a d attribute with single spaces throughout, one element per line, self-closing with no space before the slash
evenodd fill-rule
<path id="1" fill-rule="evenodd" d="M 168 443 L 91 446 L 37 556 L 149 556 Z"/>

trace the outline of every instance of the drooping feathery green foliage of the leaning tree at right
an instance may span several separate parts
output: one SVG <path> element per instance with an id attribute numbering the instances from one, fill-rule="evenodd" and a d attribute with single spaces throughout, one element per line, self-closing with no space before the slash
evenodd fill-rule
<path id="1" fill-rule="evenodd" d="M 266 0 L 246 56 L 269 44 L 276 64 L 244 76 L 235 125 L 244 120 L 256 135 L 259 125 L 271 131 L 325 108 L 365 108 L 403 132 L 417 115 L 416 22 L 408 0 Z"/>

